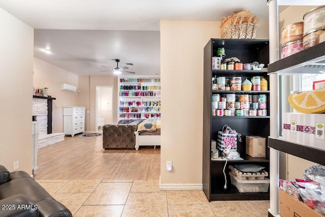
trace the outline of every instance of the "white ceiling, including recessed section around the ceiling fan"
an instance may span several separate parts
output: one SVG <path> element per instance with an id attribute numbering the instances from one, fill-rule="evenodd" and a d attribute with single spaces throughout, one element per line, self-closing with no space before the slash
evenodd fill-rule
<path id="1" fill-rule="evenodd" d="M 0 0 L 35 29 L 34 56 L 77 75 L 108 75 L 115 58 L 136 75 L 160 74 L 160 20 L 221 20 L 249 10 L 269 20 L 266 0 Z M 51 54 L 44 52 L 46 46 Z"/>

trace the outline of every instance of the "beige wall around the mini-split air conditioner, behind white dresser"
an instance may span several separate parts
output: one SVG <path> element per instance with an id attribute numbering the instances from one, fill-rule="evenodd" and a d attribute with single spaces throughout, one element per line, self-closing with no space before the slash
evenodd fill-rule
<path id="1" fill-rule="evenodd" d="M 33 85 L 35 88 L 48 87 L 48 94 L 56 100 L 53 100 L 52 113 L 52 132 L 63 132 L 63 106 L 81 106 L 79 105 L 78 92 L 69 92 L 61 90 L 61 83 L 68 83 L 77 86 L 78 75 L 58 68 L 41 59 L 34 57 L 34 76 Z"/>

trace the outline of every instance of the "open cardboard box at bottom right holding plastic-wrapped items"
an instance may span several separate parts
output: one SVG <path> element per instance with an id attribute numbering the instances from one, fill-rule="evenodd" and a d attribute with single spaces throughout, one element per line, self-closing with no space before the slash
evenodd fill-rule
<path id="1" fill-rule="evenodd" d="M 282 217 L 316 217 L 323 216 L 319 212 L 311 209 L 309 206 L 294 198 L 293 196 L 285 193 L 281 189 L 279 190 L 279 200 L 280 200 L 280 215 Z"/>

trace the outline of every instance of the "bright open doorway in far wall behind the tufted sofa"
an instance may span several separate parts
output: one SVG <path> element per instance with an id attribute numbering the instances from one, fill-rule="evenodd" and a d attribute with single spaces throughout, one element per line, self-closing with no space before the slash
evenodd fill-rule
<path id="1" fill-rule="evenodd" d="M 96 86 L 96 133 L 103 132 L 103 126 L 113 123 L 113 86 Z"/>

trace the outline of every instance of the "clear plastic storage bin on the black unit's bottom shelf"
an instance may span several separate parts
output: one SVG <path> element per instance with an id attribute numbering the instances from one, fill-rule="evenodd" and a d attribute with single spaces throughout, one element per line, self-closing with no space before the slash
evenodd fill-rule
<path id="1" fill-rule="evenodd" d="M 264 180 L 240 180 L 231 172 L 229 175 L 232 184 L 236 186 L 240 193 L 268 192 L 269 190 L 270 179 L 268 178 Z"/>

